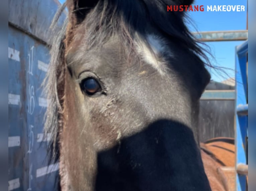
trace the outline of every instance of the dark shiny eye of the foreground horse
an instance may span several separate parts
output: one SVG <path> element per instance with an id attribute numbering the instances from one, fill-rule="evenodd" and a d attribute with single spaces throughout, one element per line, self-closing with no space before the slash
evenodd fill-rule
<path id="1" fill-rule="evenodd" d="M 93 78 L 83 80 L 81 88 L 88 95 L 93 95 L 101 90 L 100 84 Z"/>

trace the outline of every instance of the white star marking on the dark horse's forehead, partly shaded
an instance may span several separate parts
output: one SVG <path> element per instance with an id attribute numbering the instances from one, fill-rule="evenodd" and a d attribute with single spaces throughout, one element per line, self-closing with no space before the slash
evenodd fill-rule
<path id="1" fill-rule="evenodd" d="M 140 38 L 138 38 L 140 39 Z M 148 64 L 152 65 L 161 75 L 165 68 L 162 54 L 168 51 L 164 41 L 155 35 L 146 36 L 147 43 L 138 40 L 137 51 Z"/>

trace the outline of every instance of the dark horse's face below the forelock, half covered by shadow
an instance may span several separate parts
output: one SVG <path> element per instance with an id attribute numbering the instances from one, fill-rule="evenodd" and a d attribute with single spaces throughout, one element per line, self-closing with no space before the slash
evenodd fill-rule
<path id="1" fill-rule="evenodd" d="M 62 188 L 207 190 L 192 133 L 209 82 L 204 65 L 149 25 L 131 47 L 118 32 L 90 46 L 86 22 L 67 33 Z"/>

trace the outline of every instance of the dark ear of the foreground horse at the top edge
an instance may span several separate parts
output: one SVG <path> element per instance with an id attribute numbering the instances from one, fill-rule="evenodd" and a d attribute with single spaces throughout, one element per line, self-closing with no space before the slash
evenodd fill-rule
<path id="1" fill-rule="evenodd" d="M 75 25 L 81 23 L 98 2 L 99 0 L 67 0 L 69 21 L 72 21 Z"/>

